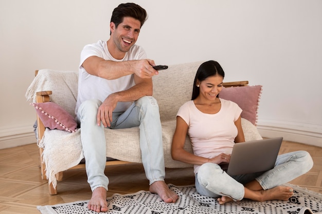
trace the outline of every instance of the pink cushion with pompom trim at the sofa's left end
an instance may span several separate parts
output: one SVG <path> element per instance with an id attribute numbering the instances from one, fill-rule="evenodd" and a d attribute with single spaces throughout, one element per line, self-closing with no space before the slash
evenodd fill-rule
<path id="1" fill-rule="evenodd" d="M 36 109 L 45 127 L 68 132 L 75 132 L 77 130 L 75 118 L 58 104 L 52 102 L 33 103 L 32 106 Z"/>

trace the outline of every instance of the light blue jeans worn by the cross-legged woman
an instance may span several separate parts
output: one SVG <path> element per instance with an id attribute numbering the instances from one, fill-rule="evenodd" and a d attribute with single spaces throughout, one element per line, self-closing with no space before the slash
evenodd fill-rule
<path id="1" fill-rule="evenodd" d="M 235 201 L 244 198 L 244 185 L 256 180 L 263 189 L 271 189 L 287 183 L 308 172 L 313 160 L 307 151 L 295 151 L 278 155 L 275 167 L 266 172 L 228 176 L 219 165 L 201 165 L 195 175 L 196 190 L 208 197 L 228 196 Z"/>

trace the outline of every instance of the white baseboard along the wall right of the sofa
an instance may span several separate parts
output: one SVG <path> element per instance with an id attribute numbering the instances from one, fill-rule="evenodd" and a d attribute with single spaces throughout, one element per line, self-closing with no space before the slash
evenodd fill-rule
<path id="1" fill-rule="evenodd" d="M 321 125 L 259 120 L 257 129 L 265 138 L 283 137 L 285 141 L 322 147 Z"/>

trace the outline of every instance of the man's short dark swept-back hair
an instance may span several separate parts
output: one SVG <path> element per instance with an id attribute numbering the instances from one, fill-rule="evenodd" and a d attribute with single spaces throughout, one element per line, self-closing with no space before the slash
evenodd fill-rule
<path id="1" fill-rule="evenodd" d="M 117 28 L 118 25 L 123 22 L 124 17 L 135 18 L 140 21 L 141 27 L 148 19 L 147 11 L 134 3 L 120 4 L 117 6 L 112 13 L 111 22 L 113 22 Z"/>

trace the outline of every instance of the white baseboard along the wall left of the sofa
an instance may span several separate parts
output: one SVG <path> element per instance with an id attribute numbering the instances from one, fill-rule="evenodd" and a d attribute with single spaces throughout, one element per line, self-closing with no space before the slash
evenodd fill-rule
<path id="1" fill-rule="evenodd" d="M 0 149 L 36 143 L 32 125 L 0 127 Z"/>

